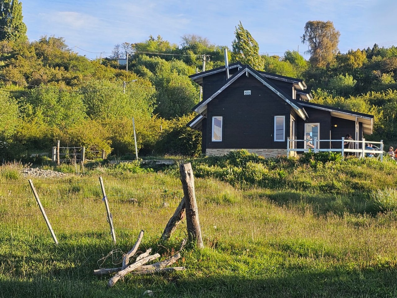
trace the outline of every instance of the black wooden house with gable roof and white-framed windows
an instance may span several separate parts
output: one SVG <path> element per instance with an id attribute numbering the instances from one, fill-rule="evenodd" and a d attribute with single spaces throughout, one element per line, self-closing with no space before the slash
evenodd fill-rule
<path id="1" fill-rule="evenodd" d="M 328 140 L 317 142 L 319 149 L 340 149 L 340 141 L 330 140 L 349 133 L 361 141 L 364 134 L 372 134 L 374 116 L 311 103 L 301 79 L 256 71 L 239 62 L 190 78 L 202 86 L 203 97 L 187 126 L 202 132 L 206 155 L 233 149 L 265 157 L 286 155 L 287 138 L 289 148 L 307 149 L 306 134 Z"/>

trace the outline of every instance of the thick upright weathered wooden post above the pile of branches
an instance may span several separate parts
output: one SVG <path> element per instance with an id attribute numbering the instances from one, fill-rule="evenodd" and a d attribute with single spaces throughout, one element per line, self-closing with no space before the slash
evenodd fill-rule
<path id="1" fill-rule="evenodd" d="M 201 238 L 200 221 L 198 220 L 197 202 L 195 194 L 195 178 L 191 163 L 179 165 L 181 182 L 186 204 L 186 225 L 189 241 L 196 242 L 199 248 L 203 248 Z"/>

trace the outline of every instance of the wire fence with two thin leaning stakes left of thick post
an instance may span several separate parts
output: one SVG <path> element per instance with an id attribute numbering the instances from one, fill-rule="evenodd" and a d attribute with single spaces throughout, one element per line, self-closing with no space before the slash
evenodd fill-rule
<path id="1" fill-rule="evenodd" d="M 104 207 L 99 180 L 1 182 L 0 229 L 47 232 L 48 236 L 48 229 L 61 234 L 106 233 L 112 230 L 112 221 L 116 234 L 141 229 L 161 233 L 183 197 L 180 181 L 176 185 L 176 178 L 168 178 L 171 181 L 167 182 L 156 179 L 162 176 L 163 173 L 104 179 L 110 214 Z M 169 189 L 170 185 L 175 187 Z M 47 226 L 46 218 L 50 223 Z"/>

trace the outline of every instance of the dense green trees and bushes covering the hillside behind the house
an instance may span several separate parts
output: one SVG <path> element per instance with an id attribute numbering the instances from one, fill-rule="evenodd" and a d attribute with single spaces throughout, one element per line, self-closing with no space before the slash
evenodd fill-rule
<path id="1" fill-rule="evenodd" d="M 248 32 L 241 23 L 236 27 L 232 62 L 243 59 L 241 44 L 256 43 L 240 31 Z M 31 153 L 49 152 L 58 139 L 64 146 L 84 145 L 88 154 L 126 155 L 135 151 L 132 117 L 140 155 L 197 156 L 200 134 L 185 124 L 200 91 L 188 75 L 202 70 L 204 58 L 206 70 L 222 66 L 224 47 L 197 35 L 184 35 L 180 46 L 150 36 L 89 60 L 54 36 L 0 41 L 0 158 L 28 160 Z M 127 53 L 128 72 L 116 63 Z M 337 53 L 325 66 L 297 51 L 251 54 L 255 62 L 241 62 L 304 79 L 316 103 L 373 114 L 374 134 L 367 139 L 397 146 L 395 46 Z"/>

